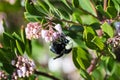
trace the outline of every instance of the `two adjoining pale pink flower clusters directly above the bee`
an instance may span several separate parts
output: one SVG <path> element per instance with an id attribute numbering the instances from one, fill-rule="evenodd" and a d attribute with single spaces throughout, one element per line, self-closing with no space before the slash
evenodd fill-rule
<path id="1" fill-rule="evenodd" d="M 49 29 L 42 29 L 41 25 L 37 22 L 29 23 L 25 29 L 26 38 L 31 40 L 32 38 L 38 39 L 42 37 L 46 42 L 50 42 L 56 40 L 62 34 L 60 24 L 57 24 L 54 27 L 49 25 L 48 27 Z"/>

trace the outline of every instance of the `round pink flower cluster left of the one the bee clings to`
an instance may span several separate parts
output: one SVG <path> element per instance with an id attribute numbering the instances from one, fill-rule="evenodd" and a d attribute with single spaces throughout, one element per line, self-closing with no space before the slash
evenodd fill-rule
<path id="1" fill-rule="evenodd" d="M 41 36 L 41 25 L 38 22 L 30 22 L 25 28 L 26 38 L 31 40 L 32 38 L 38 39 Z"/>

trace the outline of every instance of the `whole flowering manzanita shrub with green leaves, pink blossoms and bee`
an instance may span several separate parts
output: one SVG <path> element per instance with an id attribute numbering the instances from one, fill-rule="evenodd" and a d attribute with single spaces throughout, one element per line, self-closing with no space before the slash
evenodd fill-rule
<path id="1" fill-rule="evenodd" d="M 0 79 L 59 80 L 31 59 L 31 41 L 43 39 L 55 60 L 72 52 L 83 80 L 120 80 L 120 0 L 25 0 L 25 10 L 29 23 L 20 34 L 9 34 L 3 22 Z"/>

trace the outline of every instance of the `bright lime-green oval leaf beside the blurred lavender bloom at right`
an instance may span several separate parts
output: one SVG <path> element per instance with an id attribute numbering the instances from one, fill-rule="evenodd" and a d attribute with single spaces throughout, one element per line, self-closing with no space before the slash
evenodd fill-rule
<path id="1" fill-rule="evenodd" d="M 106 33 L 109 37 L 111 38 L 113 37 L 114 35 L 113 29 L 107 22 L 103 23 L 101 25 L 101 28 L 102 28 L 102 31 Z"/>

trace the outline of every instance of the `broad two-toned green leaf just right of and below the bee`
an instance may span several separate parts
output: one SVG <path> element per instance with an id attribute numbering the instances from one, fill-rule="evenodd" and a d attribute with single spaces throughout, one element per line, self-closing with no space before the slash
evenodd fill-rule
<path id="1" fill-rule="evenodd" d="M 84 49 L 80 47 L 73 48 L 73 62 L 78 69 L 85 70 L 89 66 L 90 58 L 88 56 L 89 54 Z"/>

